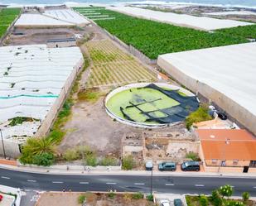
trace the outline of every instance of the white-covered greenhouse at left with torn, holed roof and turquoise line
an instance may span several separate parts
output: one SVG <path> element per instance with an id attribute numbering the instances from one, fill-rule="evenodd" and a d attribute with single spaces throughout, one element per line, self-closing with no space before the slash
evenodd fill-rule
<path id="1" fill-rule="evenodd" d="M 79 47 L 4 46 L 0 62 L 1 135 L 16 157 L 27 137 L 46 135 L 84 58 Z"/>

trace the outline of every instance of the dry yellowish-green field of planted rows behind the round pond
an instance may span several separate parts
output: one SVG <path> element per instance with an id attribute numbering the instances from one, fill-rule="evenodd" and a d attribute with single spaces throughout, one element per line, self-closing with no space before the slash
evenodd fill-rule
<path id="1" fill-rule="evenodd" d="M 111 41 L 89 41 L 86 43 L 93 68 L 91 69 L 88 87 L 122 85 L 156 79 L 132 56 L 114 46 Z"/>

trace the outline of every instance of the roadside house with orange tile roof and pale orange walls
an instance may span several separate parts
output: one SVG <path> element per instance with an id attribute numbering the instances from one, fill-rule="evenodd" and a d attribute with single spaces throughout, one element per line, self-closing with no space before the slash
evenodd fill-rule
<path id="1" fill-rule="evenodd" d="M 200 159 L 209 172 L 255 172 L 256 138 L 243 129 L 197 129 Z"/>

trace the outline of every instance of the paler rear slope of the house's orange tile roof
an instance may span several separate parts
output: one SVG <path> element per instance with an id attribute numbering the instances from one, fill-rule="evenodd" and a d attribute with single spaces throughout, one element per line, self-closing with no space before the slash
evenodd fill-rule
<path id="1" fill-rule="evenodd" d="M 256 141 L 256 138 L 244 129 L 197 129 L 200 140 L 237 140 Z"/>

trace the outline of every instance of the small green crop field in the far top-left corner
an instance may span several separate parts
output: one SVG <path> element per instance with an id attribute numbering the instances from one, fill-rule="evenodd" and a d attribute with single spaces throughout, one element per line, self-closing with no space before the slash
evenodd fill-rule
<path id="1" fill-rule="evenodd" d="M 20 8 L 0 8 L 0 38 L 5 34 L 7 28 L 20 12 Z"/>

